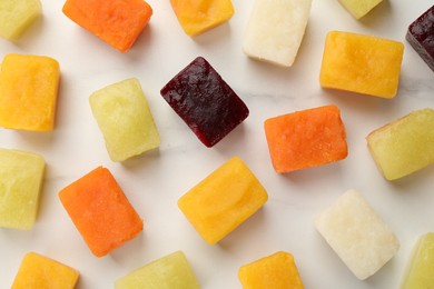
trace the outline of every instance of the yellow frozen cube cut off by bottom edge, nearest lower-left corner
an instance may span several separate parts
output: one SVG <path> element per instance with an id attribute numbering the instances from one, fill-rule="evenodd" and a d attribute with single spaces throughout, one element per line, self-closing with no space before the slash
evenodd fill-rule
<path id="1" fill-rule="evenodd" d="M 72 289 L 76 287 L 79 272 L 36 252 L 24 256 L 11 289 Z"/>

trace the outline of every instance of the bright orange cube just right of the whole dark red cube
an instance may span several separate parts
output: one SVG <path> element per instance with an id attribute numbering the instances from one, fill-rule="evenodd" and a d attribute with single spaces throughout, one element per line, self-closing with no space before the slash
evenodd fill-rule
<path id="1" fill-rule="evenodd" d="M 344 123 L 335 106 L 313 108 L 267 119 L 264 123 L 276 172 L 289 172 L 345 159 Z"/>

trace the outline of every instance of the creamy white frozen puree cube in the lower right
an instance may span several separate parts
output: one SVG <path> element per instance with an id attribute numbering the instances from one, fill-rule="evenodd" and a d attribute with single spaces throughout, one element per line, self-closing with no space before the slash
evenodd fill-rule
<path id="1" fill-rule="evenodd" d="M 393 231 L 355 190 L 323 211 L 315 227 L 361 280 L 378 271 L 400 248 Z"/>

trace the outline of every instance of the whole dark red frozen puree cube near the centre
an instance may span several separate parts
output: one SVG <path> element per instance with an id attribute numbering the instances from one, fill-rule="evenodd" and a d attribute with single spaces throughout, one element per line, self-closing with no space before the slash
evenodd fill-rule
<path id="1" fill-rule="evenodd" d="M 248 116 L 243 100 L 201 57 L 174 77 L 161 96 L 208 148 Z"/>

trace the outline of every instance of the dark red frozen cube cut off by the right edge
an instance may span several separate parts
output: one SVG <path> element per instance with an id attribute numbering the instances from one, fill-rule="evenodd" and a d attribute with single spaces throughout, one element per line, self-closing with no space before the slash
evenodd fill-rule
<path id="1" fill-rule="evenodd" d="M 434 71 L 434 6 L 410 24 L 405 38 Z"/>

